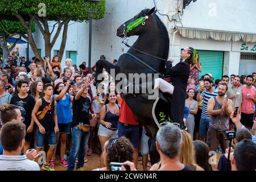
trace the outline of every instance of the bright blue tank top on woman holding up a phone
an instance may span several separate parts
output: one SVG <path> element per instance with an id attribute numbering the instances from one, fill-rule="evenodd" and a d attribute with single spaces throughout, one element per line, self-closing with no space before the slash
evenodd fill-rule
<path id="1" fill-rule="evenodd" d="M 56 94 L 53 95 L 53 97 L 55 97 L 55 96 L 56 96 Z M 61 99 L 59 101 L 56 101 L 57 102 L 56 111 L 57 111 L 58 123 L 63 123 L 63 124 L 72 122 L 70 95 L 65 94 L 65 96 L 66 96 L 65 100 Z"/>

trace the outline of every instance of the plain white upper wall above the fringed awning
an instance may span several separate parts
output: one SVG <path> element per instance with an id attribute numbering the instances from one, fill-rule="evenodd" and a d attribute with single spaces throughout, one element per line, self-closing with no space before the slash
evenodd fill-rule
<path id="1" fill-rule="evenodd" d="M 184 27 L 256 33 L 255 0 L 204 0 L 185 7 Z"/>

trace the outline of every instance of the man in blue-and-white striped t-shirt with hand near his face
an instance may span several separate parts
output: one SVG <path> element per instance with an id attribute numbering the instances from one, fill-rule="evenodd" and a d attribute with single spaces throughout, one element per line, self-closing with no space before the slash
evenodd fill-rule
<path id="1" fill-rule="evenodd" d="M 218 92 L 214 91 L 212 88 L 213 81 L 210 78 L 204 79 L 204 85 L 200 85 L 199 92 L 197 93 L 196 100 L 197 102 L 203 101 L 203 110 L 200 119 L 199 125 L 199 137 L 200 140 L 205 142 L 207 137 L 207 131 L 209 128 L 210 115 L 207 112 L 207 104 L 210 98 L 217 96 Z"/>

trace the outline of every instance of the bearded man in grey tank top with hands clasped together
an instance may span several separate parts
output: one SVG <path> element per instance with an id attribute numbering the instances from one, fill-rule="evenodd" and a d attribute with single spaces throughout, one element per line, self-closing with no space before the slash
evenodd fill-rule
<path id="1" fill-rule="evenodd" d="M 229 130 L 229 117 L 233 111 L 232 101 L 225 98 L 228 85 L 222 83 L 218 87 L 218 96 L 208 101 L 207 111 L 210 115 L 209 129 L 207 133 L 207 144 L 210 151 L 216 151 L 220 143 L 222 153 L 228 148 L 228 141 L 225 140 L 226 131 Z"/>

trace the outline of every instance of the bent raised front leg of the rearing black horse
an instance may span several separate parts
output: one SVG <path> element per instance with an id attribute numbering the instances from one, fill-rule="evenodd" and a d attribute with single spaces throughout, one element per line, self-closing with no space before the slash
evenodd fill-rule
<path id="1" fill-rule="evenodd" d="M 114 64 L 110 63 L 109 61 L 105 59 L 100 59 L 96 62 L 96 82 L 101 82 L 104 78 L 102 77 L 102 80 L 98 80 L 98 76 L 102 73 L 103 68 L 106 69 L 106 72 L 108 72 L 113 78 L 115 78 L 115 74 L 118 73 L 118 67 Z M 114 75 L 113 75 L 114 71 Z"/>

